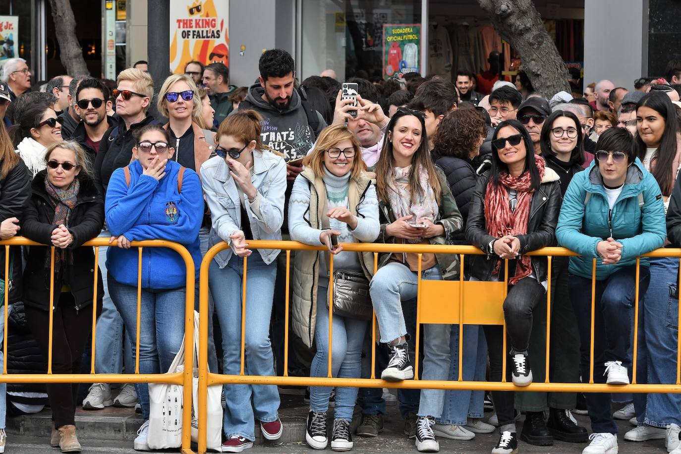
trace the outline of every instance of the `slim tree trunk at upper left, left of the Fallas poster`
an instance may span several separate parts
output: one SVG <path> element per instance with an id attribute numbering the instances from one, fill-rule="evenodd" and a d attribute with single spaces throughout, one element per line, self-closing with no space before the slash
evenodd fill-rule
<path id="1" fill-rule="evenodd" d="M 69 0 L 50 0 L 52 20 L 57 31 L 59 58 L 69 76 L 89 76 L 83 51 L 76 37 L 76 19 Z"/>

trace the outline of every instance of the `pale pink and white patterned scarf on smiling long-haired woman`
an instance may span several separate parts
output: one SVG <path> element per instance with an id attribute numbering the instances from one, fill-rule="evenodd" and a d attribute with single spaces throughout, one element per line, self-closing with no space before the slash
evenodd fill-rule
<path id="1" fill-rule="evenodd" d="M 402 216 L 409 216 L 413 214 L 411 222 L 418 222 L 419 219 L 428 218 L 430 221 L 435 222 L 439 208 L 437 206 L 437 199 L 435 198 L 435 193 L 430 187 L 428 182 L 428 172 L 426 169 L 419 169 L 419 184 L 424 189 L 425 195 L 423 197 L 419 196 L 415 191 L 415 188 L 409 188 L 409 177 L 411 175 L 411 165 L 409 167 L 394 167 L 393 176 L 394 180 L 390 182 L 390 208 L 395 214 L 395 218 L 401 218 Z M 416 192 L 417 201 L 414 204 L 411 203 L 411 191 L 413 189 Z M 407 240 L 409 243 L 420 243 L 423 238 L 415 238 L 413 240 Z"/>

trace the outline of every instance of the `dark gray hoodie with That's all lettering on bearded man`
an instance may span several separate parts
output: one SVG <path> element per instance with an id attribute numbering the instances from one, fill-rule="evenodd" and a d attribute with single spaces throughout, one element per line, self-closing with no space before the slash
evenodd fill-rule
<path id="1" fill-rule="evenodd" d="M 307 115 L 302 106 L 300 95 L 294 90 L 289 106 L 279 111 L 262 99 L 265 88 L 255 84 L 249 88 L 246 99 L 239 110 L 253 109 L 262 116 L 262 142 L 285 155 L 285 161 L 291 161 L 307 155 L 315 144 L 315 136 L 327 125 L 321 114 L 319 129 L 313 131 L 308 125 Z M 316 134 L 315 134 L 316 132 Z"/>

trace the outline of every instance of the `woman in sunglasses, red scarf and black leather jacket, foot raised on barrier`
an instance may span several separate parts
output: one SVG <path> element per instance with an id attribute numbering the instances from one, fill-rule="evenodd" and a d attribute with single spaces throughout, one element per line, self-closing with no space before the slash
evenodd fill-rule
<path id="1" fill-rule="evenodd" d="M 503 355 L 508 355 L 506 378 L 516 386 L 527 386 L 533 382 L 533 364 L 528 357 L 530 353 L 537 355 L 537 345 L 530 334 L 535 311 L 546 292 L 548 273 L 546 257 L 524 254 L 555 244 L 560 184 L 556 172 L 535 155 L 530 135 L 518 120 L 498 125 L 492 136 L 492 150 L 492 168 L 475 187 L 466 223 L 466 239 L 485 253 L 470 258 L 471 280 L 507 279 L 503 310 L 509 351 L 502 351 L 503 327 L 484 328 L 490 380 L 501 381 Z M 501 433 L 492 453 L 515 452 L 518 440 L 513 392 L 492 391 L 492 398 Z M 528 412 L 524 434 L 539 415 L 543 419 L 541 412 Z M 528 435 L 523 438 L 530 439 Z"/>

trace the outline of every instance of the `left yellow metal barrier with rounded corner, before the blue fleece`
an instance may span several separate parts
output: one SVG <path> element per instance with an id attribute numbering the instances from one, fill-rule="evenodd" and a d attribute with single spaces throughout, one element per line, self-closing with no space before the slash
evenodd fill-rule
<path id="1" fill-rule="evenodd" d="M 10 240 L 0 241 L 0 246 L 5 246 L 5 289 L 7 289 L 7 279 L 10 274 L 10 246 L 45 246 L 28 240 L 27 238 L 15 237 Z M 89 242 L 83 244 L 85 246 L 95 247 L 95 285 L 93 286 L 93 301 L 97 301 L 97 272 L 99 248 L 102 246 L 110 246 L 109 238 L 94 238 Z M 115 247 L 115 246 L 113 246 Z M 185 355 L 185 370 L 174 374 L 140 374 L 140 306 L 142 295 L 142 248 L 170 248 L 182 257 L 187 266 L 187 270 L 192 272 L 187 273 L 187 299 L 185 306 L 185 351 L 191 352 L 191 346 L 194 342 L 194 261 L 191 254 L 181 244 L 164 241 L 164 240 L 149 240 L 149 241 L 133 241 L 131 247 L 139 248 L 138 255 L 138 299 L 137 299 L 137 342 L 136 342 L 136 359 L 135 359 L 135 373 L 134 374 L 95 374 L 95 338 L 97 333 L 97 310 L 93 310 L 92 317 L 92 361 L 90 374 L 52 374 L 52 311 L 50 310 L 50 332 L 48 335 L 50 351 L 48 355 L 48 373 L 47 374 L 7 374 L 7 361 L 4 361 L 3 373 L 0 375 L 0 383 L 167 383 L 169 385 L 183 385 L 183 434 L 182 434 L 182 453 L 193 454 L 190 448 L 191 445 L 191 377 L 193 368 L 192 355 Z M 50 260 L 50 289 L 54 287 L 54 246 L 51 248 Z M 7 302 L 9 300 L 9 291 L 5 291 L 5 334 L 4 334 L 4 354 L 7 358 Z M 50 291 L 50 306 L 54 307 L 54 293 Z M 96 304 L 96 303 L 95 303 Z M 205 441 L 204 441 L 205 443 Z"/>

